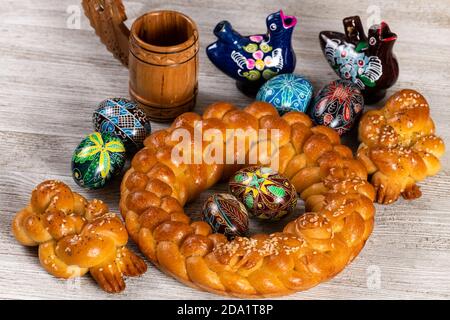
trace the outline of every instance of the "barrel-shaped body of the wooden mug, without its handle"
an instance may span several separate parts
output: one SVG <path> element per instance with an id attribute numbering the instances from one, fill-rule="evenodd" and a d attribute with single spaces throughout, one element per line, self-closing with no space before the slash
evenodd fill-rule
<path id="1" fill-rule="evenodd" d="M 130 95 L 155 121 L 169 121 L 195 105 L 198 31 L 189 17 L 156 11 L 131 27 Z"/>

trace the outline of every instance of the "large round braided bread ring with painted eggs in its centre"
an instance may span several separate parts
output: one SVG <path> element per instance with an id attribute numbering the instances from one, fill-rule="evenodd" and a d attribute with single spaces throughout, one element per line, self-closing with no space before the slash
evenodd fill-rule
<path id="1" fill-rule="evenodd" d="M 192 222 L 184 204 L 244 166 L 173 161 L 176 129 L 194 132 L 199 120 L 203 132 L 278 129 L 279 148 L 270 153 L 279 156 L 273 169 L 290 179 L 309 212 L 282 232 L 232 241 L 213 234 L 205 222 Z M 273 140 L 268 135 L 259 143 L 272 145 Z M 211 143 L 203 141 L 202 149 L 193 153 L 204 155 Z M 246 143 L 234 152 L 247 155 L 255 147 Z M 257 298 L 305 290 L 339 273 L 372 231 L 374 196 L 364 165 L 332 129 L 312 127 L 299 112 L 280 117 L 263 102 L 243 110 L 216 103 L 203 116 L 179 116 L 169 129 L 145 140 L 122 181 L 120 209 L 140 250 L 167 274 L 209 292 Z"/>

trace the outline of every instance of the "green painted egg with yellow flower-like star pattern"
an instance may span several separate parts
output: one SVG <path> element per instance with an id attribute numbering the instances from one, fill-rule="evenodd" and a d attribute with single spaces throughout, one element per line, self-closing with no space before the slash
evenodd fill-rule
<path id="1" fill-rule="evenodd" d="M 81 187 L 99 189 L 122 171 L 125 159 L 125 146 L 118 137 L 94 132 L 73 153 L 73 179 Z"/>

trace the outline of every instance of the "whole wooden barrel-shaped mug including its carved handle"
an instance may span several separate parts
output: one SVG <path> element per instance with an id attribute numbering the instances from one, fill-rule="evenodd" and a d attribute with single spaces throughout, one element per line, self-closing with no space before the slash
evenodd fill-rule
<path id="1" fill-rule="evenodd" d="M 83 7 L 108 50 L 129 67 L 130 95 L 151 120 L 171 121 L 194 108 L 199 36 L 191 18 L 149 12 L 128 30 L 121 0 L 83 0 Z"/>

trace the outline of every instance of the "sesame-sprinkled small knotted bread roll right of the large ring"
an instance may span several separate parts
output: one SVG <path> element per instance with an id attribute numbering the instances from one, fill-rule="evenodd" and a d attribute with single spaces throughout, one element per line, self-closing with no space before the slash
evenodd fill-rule
<path id="1" fill-rule="evenodd" d="M 376 201 L 388 204 L 400 195 L 421 196 L 416 182 L 435 175 L 445 145 L 434 135 L 425 98 L 414 90 L 392 95 L 380 110 L 366 112 L 359 125 L 358 159 L 372 174 Z"/>

